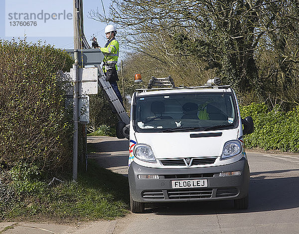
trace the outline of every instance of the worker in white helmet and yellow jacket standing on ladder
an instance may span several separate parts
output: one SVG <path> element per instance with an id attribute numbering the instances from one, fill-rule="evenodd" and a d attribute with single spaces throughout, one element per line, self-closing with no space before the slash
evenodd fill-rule
<path id="1" fill-rule="evenodd" d="M 108 41 L 105 44 L 105 47 L 100 47 L 96 40 L 92 42 L 92 47 L 100 48 L 100 50 L 104 53 L 105 56 L 103 59 L 103 71 L 106 76 L 106 81 L 109 81 L 116 96 L 119 98 L 120 102 L 124 106 L 123 98 L 116 82 L 119 80 L 117 75 L 117 60 L 119 56 L 120 47 L 119 42 L 115 39 L 116 33 L 117 31 L 114 25 L 107 25 L 105 27 L 105 34 Z"/>

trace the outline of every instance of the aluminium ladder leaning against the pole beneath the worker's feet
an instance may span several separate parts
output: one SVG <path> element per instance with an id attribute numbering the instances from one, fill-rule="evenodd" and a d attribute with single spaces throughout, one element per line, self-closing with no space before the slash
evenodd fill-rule
<path id="1" fill-rule="evenodd" d="M 82 38 L 83 38 L 82 39 L 83 47 L 85 49 L 90 49 L 90 45 L 88 44 L 84 34 Z M 119 121 L 124 122 L 126 125 L 129 124 L 130 118 L 127 115 L 126 110 L 123 107 L 122 103 L 120 102 L 119 98 L 116 96 L 110 83 L 106 81 L 106 76 L 101 66 L 97 65 L 96 67 L 98 67 L 98 80 L 99 80 L 98 84 L 102 88 L 106 99 L 109 101 L 110 106 L 117 112 Z"/>

